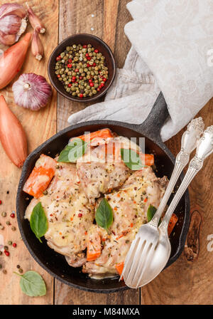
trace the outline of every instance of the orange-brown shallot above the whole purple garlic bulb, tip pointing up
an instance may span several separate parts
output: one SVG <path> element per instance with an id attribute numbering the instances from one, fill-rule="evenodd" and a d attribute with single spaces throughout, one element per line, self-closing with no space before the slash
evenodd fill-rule
<path id="1" fill-rule="evenodd" d="M 8 85 L 16 74 L 21 70 L 21 66 L 26 57 L 28 46 L 32 34 L 26 33 L 21 41 L 13 44 L 0 57 L 0 90 Z"/>

